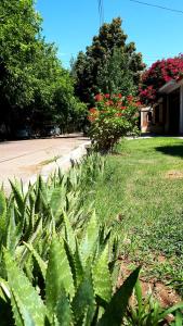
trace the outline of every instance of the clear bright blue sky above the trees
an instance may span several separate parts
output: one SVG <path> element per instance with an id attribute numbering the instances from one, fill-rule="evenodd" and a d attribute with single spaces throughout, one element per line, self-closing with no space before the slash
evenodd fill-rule
<path id="1" fill-rule="evenodd" d="M 143 1 L 143 0 L 142 0 Z M 182 0 L 144 0 L 152 4 L 183 11 Z M 63 65 L 91 45 L 97 35 L 100 17 L 97 0 L 37 0 L 37 10 L 43 17 L 45 39 L 55 42 Z M 122 18 L 122 28 L 151 65 L 158 59 L 183 52 L 183 14 L 131 2 L 130 0 L 103 0 L 104 21 Z"/>

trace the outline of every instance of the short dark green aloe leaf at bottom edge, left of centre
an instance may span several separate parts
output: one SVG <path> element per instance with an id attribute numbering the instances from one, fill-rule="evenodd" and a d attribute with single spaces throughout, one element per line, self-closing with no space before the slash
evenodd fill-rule
<path id="1" fill-rule="evenodd" d="M 58 325 L 73 325 L 73 312 L 64 288 L 62 288 L 58 300 L 56 302 L 55 314 Z"/>

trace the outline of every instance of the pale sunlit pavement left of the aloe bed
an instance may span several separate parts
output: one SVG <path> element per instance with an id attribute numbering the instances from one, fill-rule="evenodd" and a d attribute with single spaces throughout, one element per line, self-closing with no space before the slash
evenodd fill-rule
<path id="1" fill-rule="evenodd" d="M 0 142 L 0 184 L 10 192 L 9 179 L 22 179 L 25 188 L 38 174 L 43 178 L 54 170 L 67 168 L 70 159 L 79 160 L 90 141 L 81 134 L 57 138 Z"/>

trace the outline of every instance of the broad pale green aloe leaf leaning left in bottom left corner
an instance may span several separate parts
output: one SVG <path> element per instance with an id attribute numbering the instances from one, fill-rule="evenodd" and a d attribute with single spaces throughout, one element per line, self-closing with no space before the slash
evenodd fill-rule
<path id="1" fill-rule="evenodd" d="M 17 298 L 24 298 L 24 306 L 31 315 L 35 325 L 43 326 L 45 308 L 41 298 L 31 286 L 24 272 L 17 267 L 16 263 L 6 250 L 4 250 L 4 261 L 8 273 L 8 283 L 11 291 L 15 293 Z M 12 305 L 14 305 L 15 300 L 12 298 L 11 302 Z"/>

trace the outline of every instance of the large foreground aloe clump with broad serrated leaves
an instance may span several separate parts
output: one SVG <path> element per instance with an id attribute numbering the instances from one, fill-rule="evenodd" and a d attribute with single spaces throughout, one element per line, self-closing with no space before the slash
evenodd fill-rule
<path id="1" fill-rule="evenodd" d="M 31 260 L 31 281 L 4 249 L 9 300 L 15 325 L 41 326 L 45 319 L 50 325 L 112 325 L 112 318 L 116 318 L 114 325 L 121 324 L 139 269 L 132 273 L 116 293 L 112 292 L 109 241 L 103 250 L 100 248 L 101 226 L 96 222 L 93 214 L 84 229 L 84 240 L 77 239 L 77 235 L 74 235 L 75 250 L 69 247 L 69 240 L 67 242 L 53 233 L 52 240 L 48 243 L 48 261 L 31 244 L 23 244 L 28 249 L 29 258 L 35 258 L 35 262 Z M 69 231 L 73 233 L 71 229 Z M 83 248 L 87 250 L 83 251 Z M 42 285 L 35 279 L 35 263 L 42 271 Z M 39 274 L 36 275 L 38 277 Z"/>

